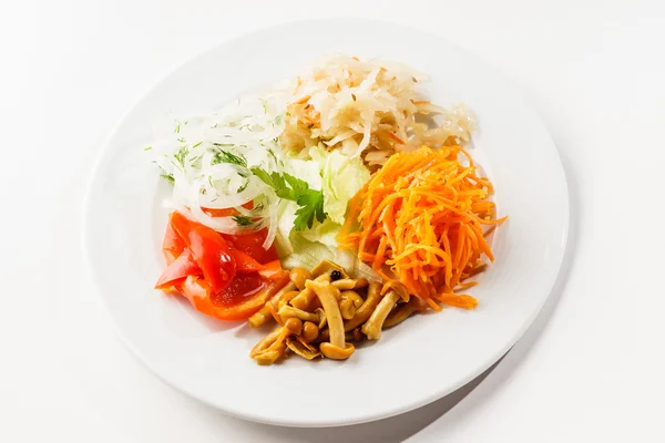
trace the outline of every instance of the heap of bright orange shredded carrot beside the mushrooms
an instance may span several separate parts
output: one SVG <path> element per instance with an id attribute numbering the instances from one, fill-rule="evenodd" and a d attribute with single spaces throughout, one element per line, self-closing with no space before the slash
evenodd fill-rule
<path id="1" fill-rule="evenodd" d="M 458 145 L 400 152 L 354 196 L 337 239 L 432 309 L 473 309 L 473 297 L 454 291 L 475 285 L 462 281 L 487 267 L 483 257 L 494 259 L 482 225 L 505 217 L 495 219 L 492 192 Z"/>

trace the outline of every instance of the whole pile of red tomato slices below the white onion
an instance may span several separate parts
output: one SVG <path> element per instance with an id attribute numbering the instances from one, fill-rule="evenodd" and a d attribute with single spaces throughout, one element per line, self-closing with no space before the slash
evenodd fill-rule
<path id="1" fill-rule="evenodd" d="M 177 289 L 211 317 L 246 319 L 288 281 L 275 247 L 263 248 L 266 235 L 222 235 L 175 212 L 162 245 L 168 266 L 155 287 Z"/>

